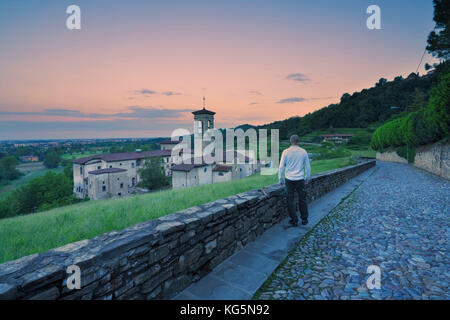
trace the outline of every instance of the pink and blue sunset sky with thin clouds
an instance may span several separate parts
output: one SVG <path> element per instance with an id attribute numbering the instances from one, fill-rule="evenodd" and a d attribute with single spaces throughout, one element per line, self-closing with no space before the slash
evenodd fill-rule
<path id="1" fill-rule="evenodd" d="M 415 72 L 433 28 L 432 0 L 2 0 L 0 140 L 170 136 L 203 96 L 216 127 L 303 116 Z"/>

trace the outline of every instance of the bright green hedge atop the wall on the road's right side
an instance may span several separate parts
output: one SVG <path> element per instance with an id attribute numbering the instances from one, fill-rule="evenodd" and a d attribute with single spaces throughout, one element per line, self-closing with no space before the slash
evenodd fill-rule
<path id="1" fill-rule="evenodd" d="M 450 73 L 442 75 L 430 91 L 428 105 L 407 116 L 386 122 L 375 130 L 370 146 L 377 151 L 408 143 L 419 146 L 436 142 L 450 131 Z"/>

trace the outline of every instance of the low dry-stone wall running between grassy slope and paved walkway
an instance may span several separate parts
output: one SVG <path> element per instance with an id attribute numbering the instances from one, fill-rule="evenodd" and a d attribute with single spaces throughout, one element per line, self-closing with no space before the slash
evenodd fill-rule
<path id="1" fill-rule="evenodd" d="M 308 201 L 374 165 L 313 177 Z M 169 299 L 280 222 L 285 201 L 272 185 L 6 262 L 0 299 Z M 81 289 L 67 288 L 71 265 L 80 268 Z"/>

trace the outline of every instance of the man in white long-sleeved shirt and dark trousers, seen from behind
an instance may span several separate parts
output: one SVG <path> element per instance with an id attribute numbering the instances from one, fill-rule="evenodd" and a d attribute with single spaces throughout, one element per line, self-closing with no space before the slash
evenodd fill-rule
<path id="1" fill-rule="evenodd" d="M 298 194 L 302 225 L 308 224 L 305 186 L 311 177 L 311 167 L 309 165 L 308 153 L 305 149 L 298 146 L 298 136 L 295 134 L 291 136 L 290 142 L 291 146 L 281 154 L 278 179 L 281 185 L 286 184 L 288 211 L 291 216 L 289 223 L 296 227 L 298 226 L 298 217 L 294 204 L 295 192 Z M 285 172 L 286 182 L 282 178 L 283 171 Z"/>

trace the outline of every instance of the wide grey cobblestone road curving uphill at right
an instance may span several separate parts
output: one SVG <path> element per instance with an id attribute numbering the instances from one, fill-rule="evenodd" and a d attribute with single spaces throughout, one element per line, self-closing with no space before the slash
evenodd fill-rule
<path id="1" fill-rule="evenodd" d="M 301 240 L 259 299 L 450 299 L 450 182 L 378 162 Z M 379 266 L 381 288 L 368 289 Z"/>

